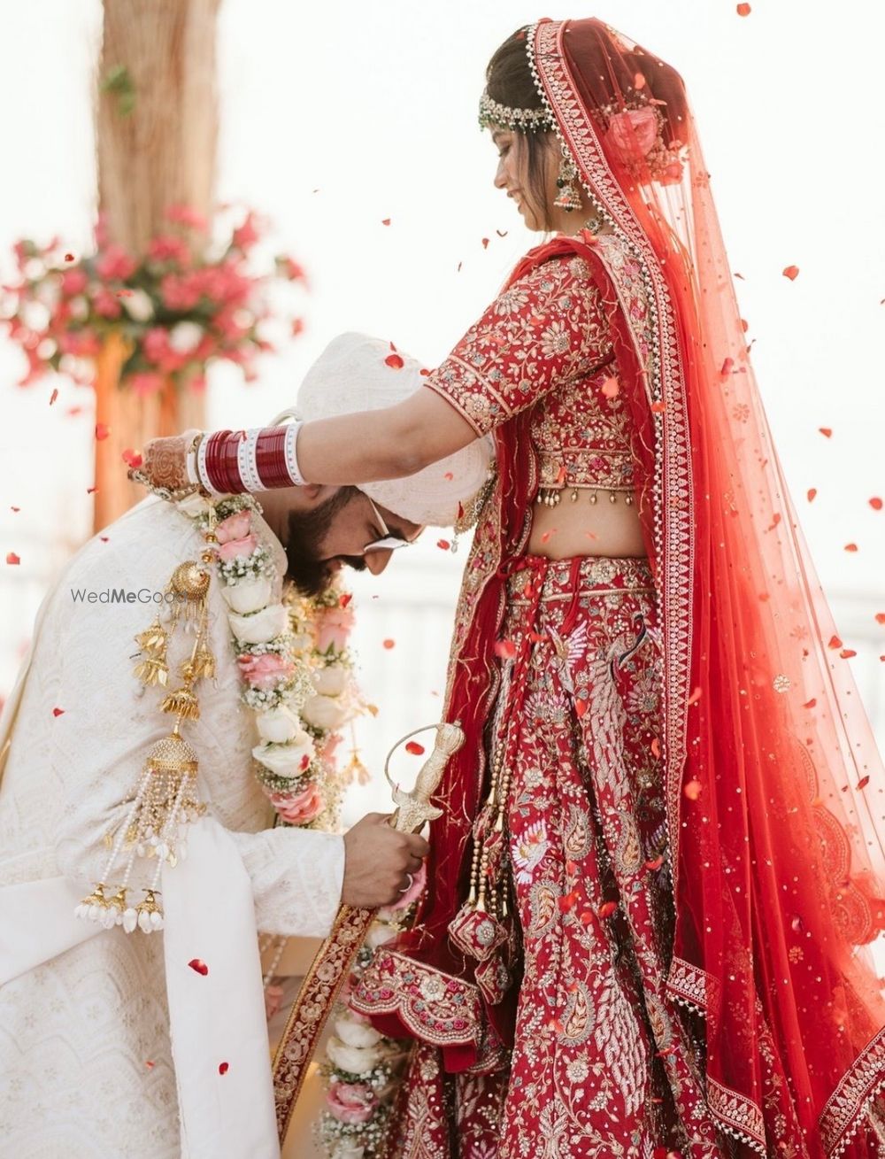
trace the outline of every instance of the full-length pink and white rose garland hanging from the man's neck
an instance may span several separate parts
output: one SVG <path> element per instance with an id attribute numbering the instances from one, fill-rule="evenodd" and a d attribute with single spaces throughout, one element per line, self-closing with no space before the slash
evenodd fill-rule
<path id="1" fill-rule="evenodd" d="M 258 783 L 281 824 L 334 830 L 353 772 L 365 779 L 356 752 L 344 772 L 337 772 L 338 729 L 358 713 L 373 710 L 359 694 L 346 647 L 353 626 L 351 596 L 332 586 L 310 599 L 288 590 L 279 603 L 271 602 L 276 569 L 254 530 L 253 517 L 261 506 L 251 495 L 214 501 L 191 495 L 176 506 L 196 523 L 217 559 L 244 685 L 242 699 L 255 712 L 262 738 L 253 749 Z M 374 948 L 410 920 L 424 883 L 422 866 L 396 905 L 378 911 L 332 1014 L 322 1067 L 327 1109 L 316 1127 L 331 1159 L 372 1159 L 382 1153 L 408 1048 L 352 1011 L 348 994 Z"/>

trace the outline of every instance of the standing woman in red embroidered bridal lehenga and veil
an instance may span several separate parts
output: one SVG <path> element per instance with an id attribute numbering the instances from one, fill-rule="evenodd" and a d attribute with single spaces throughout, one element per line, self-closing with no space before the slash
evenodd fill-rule
<path id="1" fill-rule="evenodd" d="M 597 20 L 519 30 L 487 81 L 496 185 L 553 236 L 407 401 L 288 458 L 250 436 L 264 481 L 338 484 L 496 439 L 467 743 L 417 923 L 352 999 L 417 1040 L 392 1153 L 882 1154 L 885 780 L 682 81 Z M 205 486 L 247 489 L 213 466 L 236 438 L 202 440 Z"/>

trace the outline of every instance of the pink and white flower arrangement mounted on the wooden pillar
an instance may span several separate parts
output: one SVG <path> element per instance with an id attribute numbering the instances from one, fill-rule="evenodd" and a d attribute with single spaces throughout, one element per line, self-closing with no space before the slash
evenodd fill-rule
<path id="1" fill-rule="evenodd" d="M 167 219 L 168 231 L 138 257 L 110 242 L 101 220 L 90 256 L 65 253 L 58 239 L 44 247 L 16 242 L 19 280 L 3 286 L 2 320 L 27 359 L 22 386 L 53 371 L 90 382 L 111 334 L 127 350 L 120 384 L 139 394 L 168 381 L 200 391 L 214 360 L 241 366 L 247 381 L 255 378 L 257 356 L 275 349 L 266 334 L 270 284 L 303 283 L 303 270 L 278 256 L 271 274 L 255 271 L 262 229 L 254 212 L 220 247 L 210 243 L 209 224 L 193 210 L 173 206 Z M 298 334 L 300 320 L 288 328 Z"/>

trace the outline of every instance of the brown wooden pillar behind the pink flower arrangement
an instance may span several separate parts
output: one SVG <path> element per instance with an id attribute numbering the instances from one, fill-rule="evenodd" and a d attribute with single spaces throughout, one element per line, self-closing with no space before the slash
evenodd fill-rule
<path id="1" fill-rule="evenodd" d="M 215 80 L 220 0 L 103 0 L 104 25 L 96 138 L 98 209 L 108 240 L 133 256 L 159 233 L 166 212 L 188 205 L 209 218 L 218 140 Z M 202 239 L 189 239 L 197 247 Z M 97 531 L 144 496 L 126 479 L 120 452 L 148 438 L 203 425 L 200 395 L 176 391 L 139 396 L 119 385 L 120 340 L 96 367 L 96 422 L 110 429 L 95 443 Z"/>

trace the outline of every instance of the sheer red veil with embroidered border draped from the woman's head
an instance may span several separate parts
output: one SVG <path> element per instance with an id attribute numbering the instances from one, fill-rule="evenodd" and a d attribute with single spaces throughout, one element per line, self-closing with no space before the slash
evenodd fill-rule
<path id="1" fill-rule="evenodd" d="M 665 642 L 668 991 L 704 1018 L 723 1129 L 759 1154 L 800 1131 L 809 1156 L 829 1159 L 885 1086 L 866 948 L 885 928 L 885 773 L 771 445 L 682 82 L 595 20 L 542 21 L 526 38 L 614 235 L 557 239 L 529 261 L 575 246 L 621 304 L 612 322 Z M 447 719 L 467 744 L 443 786 L 420 924 L 402 942 L 462 976 L 446 925 L 482 789 L 500 563 L 524 548 L 536 490 L 519 445 L 517 418 L 499 431 L 498 505 L 477 529 L 455 630 Z M 509 1012 L 489 1013 L 506 1038 Z M 446 1064 L 468 1056 L 449 1049 Z M 885 1139 L 882 1121 L 873 1130 Z"/>

